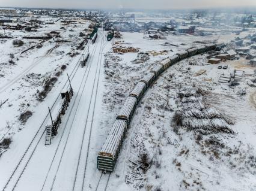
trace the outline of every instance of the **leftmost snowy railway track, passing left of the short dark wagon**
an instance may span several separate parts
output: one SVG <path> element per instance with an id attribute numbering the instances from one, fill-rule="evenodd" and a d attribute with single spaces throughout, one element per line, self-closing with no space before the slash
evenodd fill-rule
<path id="1" fill-rule="evenodd" d="M 87 48 L 85 48 L 85 50 L 86 49 Z M 79 61 L 81 60 L 81 58 L 82 58 L 82 56 L 79 58 L 78 62 L 76 63 L 75 67 L 72 70 L 72 73 L 70 75 L 70 80 L 71 81 L 73 80 L 73 78 L 75 77 L 76 72 L 78 71 Z M 67 84 L 68 84 L 68 80 L 64 83 L 64 86 L 62 87 L 62 89 L 64 89 L 64 87 L 66 87 Z M 67 87 L 69 87 L 69 84 L 68 84 Z M 52 105 L 51 109 L 53 109 L 55 107 L 56 102 L 58 101 L 59 98 L 60 98 L 60 95 L 58 95 L 55 98 L 55 101 L 53 102 L 53 105 Z M 10 190 L 15 189 L 18 181 L 20 180 L 20 177 L 22 177 L 22 174 L 25 171 L 25 168 L 29 163 L 29 160 L 31 159 L 32 155 L 34 154 L 34 151 L 37 148 L 37 145 L 40 143 L 40 140 L 44 135 L 44 132 L 45 132 L 44 126 L 46 125 L 48 117 L 49 117 L 49 113 L 46 115 L 46 117 L 44 117 L 43 122 L 41 123 L 41 125 L 38 128 L 36 134 L 34 135 L 31 142 L 29 143 L 28 147 L 26 148 L 25 153 L 22 155 L 21 159 L 17 163 L 16 168 L 14 169 L 12 174 L 10 175 L 10 178 L 8 178 L 7 183 L 5 183 L 5 186 L 2 189 L 3 191 L 7 189 L 7 186 L 11 183 L 11 181 L 14 181 L 14 183 L 13 183 L 13 186 L 11 186 L 12 189 L 10 189 Z M 19 175 L 17 175 L 17 171 L 19 171 L 19 169 L 20 169 L 21 172 L 20 172 Z"/>

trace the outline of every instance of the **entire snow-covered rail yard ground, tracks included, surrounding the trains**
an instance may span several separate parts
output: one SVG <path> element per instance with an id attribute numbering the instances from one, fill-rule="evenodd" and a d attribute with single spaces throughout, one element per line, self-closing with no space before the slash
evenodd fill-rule
<path id="1" fill-rule="evenodd" d="M 248 40 L 255 28 L 157 39 L 120 32 L 107 41 L 100 26 L 94 43 L 86 38 L 93 20 L 39 20 L 50 24 L 1 31 L 11 37 L 0 38 L 1 190 L 256 190 L 256 67 L 238 51 L 209 63 L 243 47 L 236 39 Z M 139 80 L 160 60 L 210 43 L 226 46 L 175 63 L 147 89 L 114 171 L 102 174 L 98 153 Z M 58 134 L 45 145 L 49 109 L 55 120 L 59 93 L 70 84 L 74 93 Z"/>

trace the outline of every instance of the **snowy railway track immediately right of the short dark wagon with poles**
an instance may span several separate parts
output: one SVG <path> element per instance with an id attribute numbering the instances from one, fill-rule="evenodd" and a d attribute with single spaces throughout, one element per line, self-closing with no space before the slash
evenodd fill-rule
<path id="1" fill-rule="evenodd" d="M 95 52 L 96 52 L 96 46 L 94 46 L 93 54 L 91 55 L 91 57 L 93 57 L 93 56 L 95 55 Z M 90 58 L 91 58 L 91 57 L 90 57 Z M 91 66 L 92 66 L 92 64 L 93 64 L 93 63 L 91 62 L 91 59 L 88 60 L 88 61 L 89 61 L 89 63 L 90 63 L 90 68 L 89 68 L 89 71 L 87 72 L 87 77 L 85 78 L 85 81 L 84 81 L 84 86 L 83 86 L 83 88 L 82 88 L 82 92 L 81 92 L 81 96 L 80 96 L 80 98 L 79 98 L 78 106 L 80 105 L 82 93 L 84 92 L 84 90 L 85 90 L 85 84 L 87 83 L 88 74 L 90 73 Z M 85 74 L 86 74 L 86 72 L 85 72 Z M 56 151 L 55 151 L 55 155 L 54 155 L 54 157 L 53 157 L 53 159 L 52 159 L 52 162 L 51 162 L 51 164 L 50 164 L 49 171 L 47 172 L 47 176 L 46 176 L 46 178 L 45 178 L 45 180 L 44 180 L 43 187 L 42 187 L 41 190 L 44 190 L 44 187 L 47 187 L 47 186 L 45 186 L 46 183 L 47 183 L 47 180 L 48 180 L 48 179 L 51 180 L 52 178 L 53 178 L 53 181 L 52 181 L 52 184 L 50 185 L 50 190 L 53 189 L 53 186 L 54 186 L 54 184 L 55 184 L 55 180 L 56 180 L 56 178 L 57 178 L 57 174 L 58 174 L 58 171 L 59 171 L 59 166 L 61 165 L 61 162 L 62 162 L 62 157 L 63 157 L 63 155 L 64 155 L 64 151 L 66 151 L 66 146 L 67 146 L 67 143 L 68 143 L 68 141 L 69 141 L 70 132 L 71 132 L 71 130 L 72 130 L 73 123 L 74 123 L 74 121 L 75 121 L 75 116 L 76 116 L 76 113 L 77 113 L 77 111 L 78 111 L 78 108 L 79 108 L 79 107 L 76 107 L 75 114 L 73 114 L 73 119 L 72 119 L 72 122 L 71 122 L 71 125 L 70 125 L 71 128 L 69 129 L 69 134 L 67 135 L 67 140 L 64 142 L 65 145 L 64 145 L 64 148 L 63 148 L 63 150 L 62 150 L 61 157 L 60 157 L 60 159 L 56 159 L 56 152 L 57 152 L 57 150 L 59 149 L 59 145 L 58 145 L 58 147 L 57 147 L 57 149 L 56 149 Z M 68 118 L 67 120 L 69 120 L 69 118 Z M 66 124 L 66 125 L 67 125 L 67 124 Z M 66 126 L 65 126 L 65 128 L 66 128 Z M 63 132 L 64 132 L 64 131 L 63 131 Z M 61 137 L 61 140 L 62 140 L 62 137 Z M 61 140 L 59 141 L 59 144 L 61 143 Z M 62 141 L 62 142 L 63 142 L 63 141 Z M 55 160 L 55 161 L 54 161 L 54 160 Z M 56 162 L 56 161 L 57 161 L 57 162 Z M 49 174 L 50 174 L 50 171 L 52 170 L 53 162 L 55 162 L 55 163 L 58 164 L 58 168 L 56 169 L 56 172 L 54 173 L 54 177 L 50 178 L 50 177 L 49 177 L 49 176 L 50 176 Z M 49 186 L 48 186 L 48 187 L 49 187 Z M 45 190 L 47 190 L 47 189 L 45 189 Z"/>

